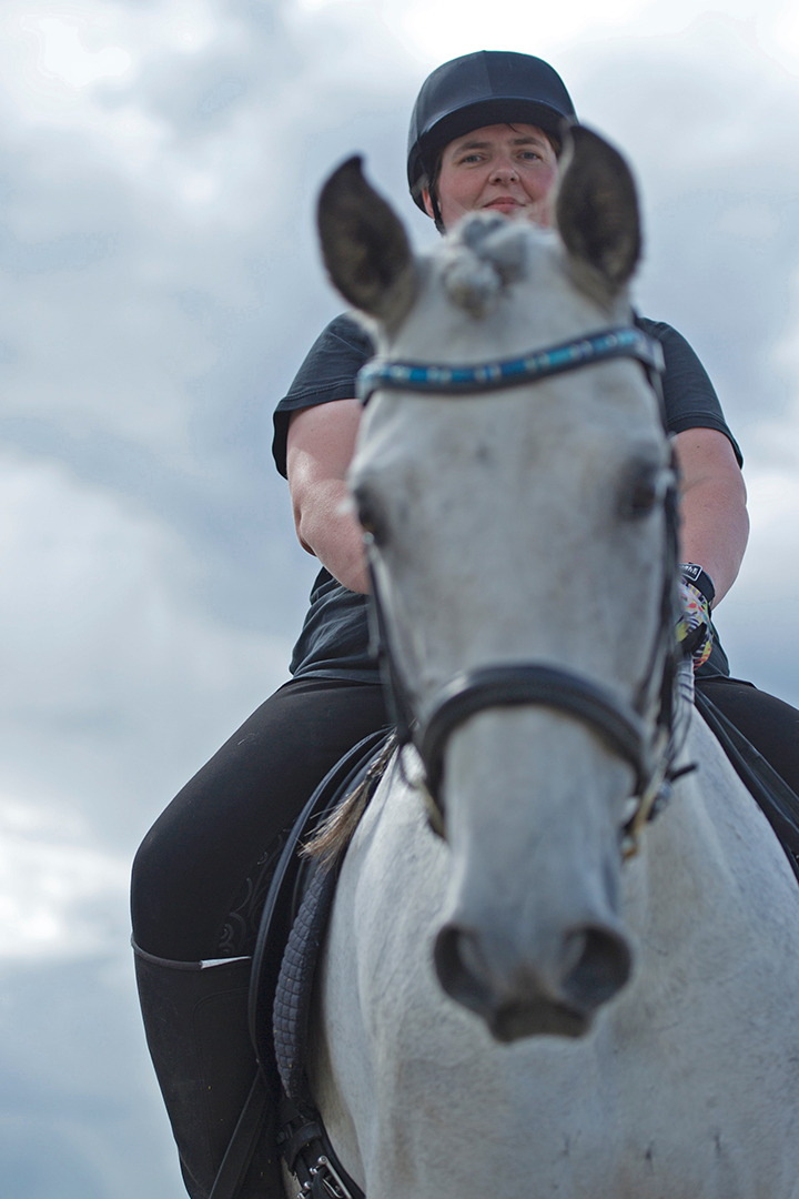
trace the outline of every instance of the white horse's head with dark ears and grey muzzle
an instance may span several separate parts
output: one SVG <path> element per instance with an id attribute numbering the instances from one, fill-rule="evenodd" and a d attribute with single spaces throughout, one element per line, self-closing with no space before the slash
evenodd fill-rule
<path id="1" fill-rule="evenodd" d="M 621 831 L 672 592 L 673 475 L 640 362 L 486 390 L 497 363 L 631 332 L 629 169 L 585 128 L 564 161 L 556 229 L 470 216 L 426 258 L 359 159 L 319 209 L 328 272 L 379 347 L 350 483 L 449 845 L 435 969 L 501 1041 L 580 1036 L 629 978 Z M 436 392 L 450 368 L 483 385 Z M 402 384 L 414 369 L 426 390 Z"/>

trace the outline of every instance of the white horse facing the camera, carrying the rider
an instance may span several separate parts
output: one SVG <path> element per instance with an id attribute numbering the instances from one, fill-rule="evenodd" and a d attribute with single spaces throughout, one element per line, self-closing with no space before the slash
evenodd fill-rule
<path id="1" fill-rule="evenodd" d="M 557 224 L 470 218 L 418 260 L 357 161 L 320 204 L 380 362 L 629 326 L 635 191 L 586 131 Z M 446 839 L 407 747 L 346 854 L 319 987 L 311 1081 L 343 1164 L 368 1199 L 797 1199 L 799 888 L 684 701 L 677 763 L 652 761 L 672 476 L 644 370 L 375 382 L 351 486 Z M 688 761 L 625 861 L 630 795 Z"/>

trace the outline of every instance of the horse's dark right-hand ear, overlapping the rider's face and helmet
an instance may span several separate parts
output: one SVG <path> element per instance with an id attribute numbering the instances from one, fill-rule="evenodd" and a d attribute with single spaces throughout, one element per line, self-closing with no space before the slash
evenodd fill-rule
<path id="1" fill-rule="evenodd" d="M 641 257 L 641 218 L 627 162 L 583 125 L 565 137 L 556 223 L 571 259 L 593 267 L 616 294 Z"/>

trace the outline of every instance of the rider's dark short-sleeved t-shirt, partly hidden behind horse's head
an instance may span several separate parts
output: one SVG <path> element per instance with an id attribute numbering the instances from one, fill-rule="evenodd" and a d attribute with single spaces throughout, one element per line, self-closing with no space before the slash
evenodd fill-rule
<path id="1" fill-rule="evenodd" d="M 636 317 L 635 320 L 646 333 L 660 342 L 664 350 L 664 400 L 668 432 L 718 429 L 730 438 L 740 464 L 740 450 L 727 428 L 719 397 L 685 338 L 664 321 L 646 317 Z M 272 453 L 284 477 L 291 414 L 334 399 L 352 399 L 356 375 L 373 354 L 371 338 L 346 314 L 332 320 L 316 339 L 274 412 Z M 379 681 L 377 664 L 369 655 L 367 602 L 365 596 L 347 590 L 325 568 L 319 572 L 310 592 L 310 608 L 291 658 L 290 670 L 295 677 Z M 710 662 L 702 673 L 730 673 L 718 639 Z"/>

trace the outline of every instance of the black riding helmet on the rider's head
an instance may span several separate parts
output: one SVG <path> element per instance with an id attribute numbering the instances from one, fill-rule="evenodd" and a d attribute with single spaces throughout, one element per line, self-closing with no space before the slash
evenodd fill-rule
<path id="1" fill-rule="evenodd" d="M 454 138 L 484 125 L 519 121 L 558 135 L 574 104 L 557 71 L 531 54 L 478 50 L 444 62 L 422 85 L 407 135 L 407 182 L 424 212 L 422 189 L 432 182 L 438 155 Z M 440 225 L 435 203 L 436 224 Z"/>

